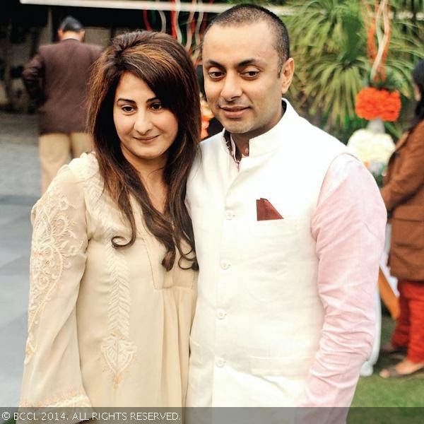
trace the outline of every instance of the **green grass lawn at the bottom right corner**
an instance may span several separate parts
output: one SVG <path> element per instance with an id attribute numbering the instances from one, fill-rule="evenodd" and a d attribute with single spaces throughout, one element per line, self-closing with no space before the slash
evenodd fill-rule
<path id="1" fill-rule="evenodd" d="M 393 329 L 394 321 L 383 315 L 382 344 L 390 340 Z M 397 362 L 399 359 L 379 358 L 374 374 L 360 377 L 352 406 L 424 406 L 424 372 L 402 379 L 379 377 L 382 368 Z"/>

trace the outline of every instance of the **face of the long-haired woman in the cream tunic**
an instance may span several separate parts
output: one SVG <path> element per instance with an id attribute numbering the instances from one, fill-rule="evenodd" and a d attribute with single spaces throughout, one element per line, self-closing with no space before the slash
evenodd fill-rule
<path id="1" fill-rule="evenodd" d="M 167 150 L 178 133 L 178 122 L 147 84 L 125 72 L 114 97 L 113 120 L 122 153 L 136 169 L 165 165 Z"/>

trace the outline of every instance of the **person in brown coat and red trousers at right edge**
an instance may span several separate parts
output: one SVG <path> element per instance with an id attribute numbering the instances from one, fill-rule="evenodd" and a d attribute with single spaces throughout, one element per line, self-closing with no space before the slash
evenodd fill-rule
<path id="1" fill-rule="evenodd" d="M 424 368 L 424 61 L 413 70 L 418 100 L 410 129 L 389 160 L 382 196 L 391 213 L 389 265 L 398 278 L 401 314 L 383 351 L 406 351 L 400 363 L 380 372 L 404 377 Z"/>

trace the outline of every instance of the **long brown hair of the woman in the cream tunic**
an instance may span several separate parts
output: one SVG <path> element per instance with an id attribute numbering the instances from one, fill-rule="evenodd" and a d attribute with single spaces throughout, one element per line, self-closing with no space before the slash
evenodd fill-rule
<path id="1" fill-rule="evenodd" d="M 163 170 L 167 184 L 165 212 L 157 211 L 136 169 L 124 158 L 113 120 L 114 95 L 124 72 L 141 78 L 178 121 L 178 134 L 167 152 Z M 181 257 L 197 269 L 192 221 L 184 204 L 187 176 L 200 140 L 201 115 L 199 88 L 192 61 L 184 48 L 163 33 L 134 32 L 112 40 L 93 67 L 90 81 L 88 128 L 93 134 L 96 158 L 105 189 L 116 199 L 120 211 L 131 225 L 131 239 L 115 235 L 117 249 L 136 240 L 136 221 L 130 196 L 143 212 L 148 230 L 165 246 L 162 264 L 169 271 L 177 247 Z M 190 251 L 184 252 L 182 241 Z M 181 266 L 181 264 L 179 264 Z"/>

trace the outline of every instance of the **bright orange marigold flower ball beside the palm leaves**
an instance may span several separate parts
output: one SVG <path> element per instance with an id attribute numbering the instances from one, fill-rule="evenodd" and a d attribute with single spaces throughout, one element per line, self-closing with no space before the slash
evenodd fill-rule
<path id="1" fill-rule="evenodd" d="M 399 91 L 378 90 L 367 87 L 356 96 L 355 112 L 360 118 L 368 120 L 381 118 L 394 122 L 401 111 L 401 95 Z"/>

